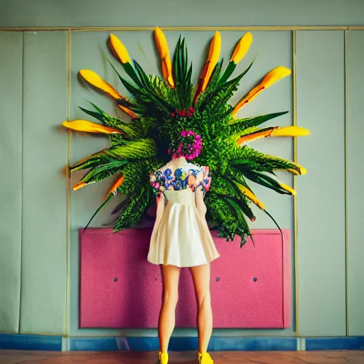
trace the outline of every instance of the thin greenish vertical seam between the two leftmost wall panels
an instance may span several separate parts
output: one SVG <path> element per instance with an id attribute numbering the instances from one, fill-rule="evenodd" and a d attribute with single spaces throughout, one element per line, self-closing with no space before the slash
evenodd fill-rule
<path id="1" fill-rule="evenodd" d="M 22 279 L 22 267 L 23 267 L 23 184 L 24 184 L 24 154 L 23 154 L 23 141 L 24 141 L 24 32 L 21 33 L 21 243 L 20 243 L 20 287 L 19 287 L 19 322 L 18 322 L 18 333 L 21 328 L 21 279 Z"/>

